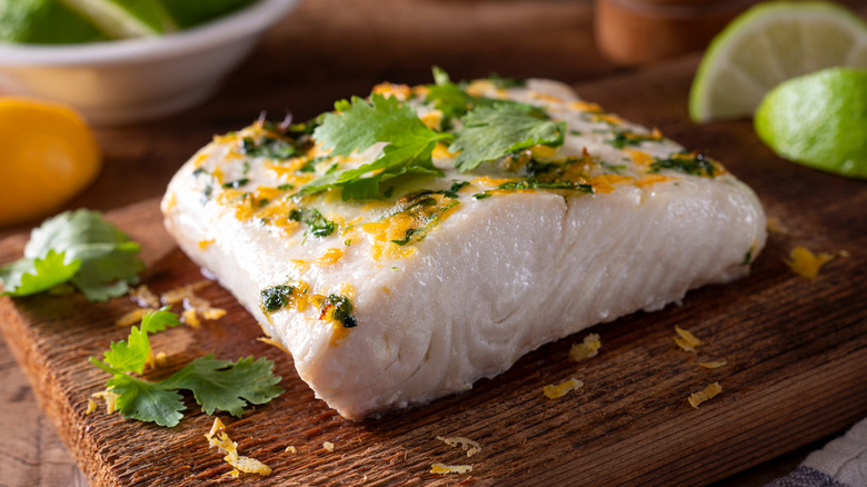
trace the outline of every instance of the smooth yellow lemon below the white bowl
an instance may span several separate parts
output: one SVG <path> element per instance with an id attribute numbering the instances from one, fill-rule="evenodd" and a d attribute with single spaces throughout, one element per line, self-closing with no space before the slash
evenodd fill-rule
<path id="1" fill-rule="evenodd" d="M 44 217 L 84 189 L 102 166 L 99 147 L 72 109 L 0 97 L 0 226 Z"/>

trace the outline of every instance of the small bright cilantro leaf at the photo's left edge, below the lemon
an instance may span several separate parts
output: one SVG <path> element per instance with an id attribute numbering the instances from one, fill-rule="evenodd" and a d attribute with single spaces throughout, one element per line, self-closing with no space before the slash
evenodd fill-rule
<path id="1" fill-rule="evenodd" d="M 49 250 L 44 258 L 20 259 L 0 268 L 3 296 L 30 296 L 72 278 L 81 260 L 66 261 L 66 252 Z"/>

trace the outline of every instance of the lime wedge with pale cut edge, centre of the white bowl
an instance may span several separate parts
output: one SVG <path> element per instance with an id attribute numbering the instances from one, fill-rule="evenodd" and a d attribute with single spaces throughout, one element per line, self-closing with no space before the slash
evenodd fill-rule
<path id="1" fill-rule="evenodd" d="M 203 1 L 203 0 L 201 0 Z M 114 39 L 159 36 L 177 30 L 160 0 L 60 0 Z"/>

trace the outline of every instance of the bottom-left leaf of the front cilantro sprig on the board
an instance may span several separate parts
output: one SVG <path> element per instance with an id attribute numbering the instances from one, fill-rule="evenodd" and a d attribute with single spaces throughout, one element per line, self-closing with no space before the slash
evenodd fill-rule
<path id="1" fill-rule="evenodd" d="M 172 427 L 183 418 L 180 411 L 187 409 L 183 396 L 161 382 L 118 374 L 109 379 L 107 386 L 119 395 L 116 405 L 124 418 Z"/>

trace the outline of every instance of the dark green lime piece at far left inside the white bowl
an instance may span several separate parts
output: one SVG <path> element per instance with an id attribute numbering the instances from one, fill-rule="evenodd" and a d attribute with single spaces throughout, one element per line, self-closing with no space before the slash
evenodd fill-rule
<path id="1" fill-rule="evenodd" d="M 56 0 L 0 0 L 0 41 L 53 44 L 103 39 L 92 22 Z"/>

